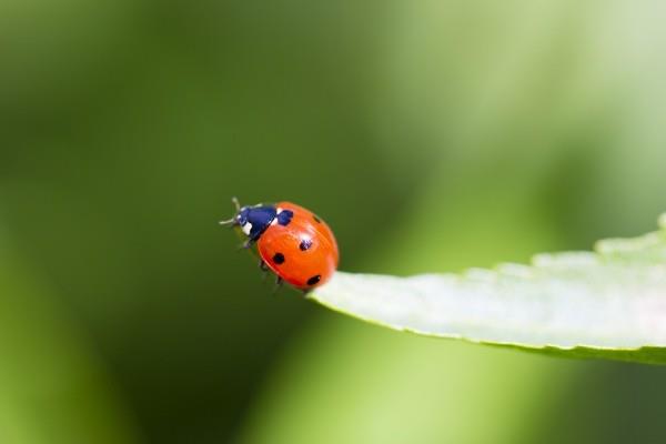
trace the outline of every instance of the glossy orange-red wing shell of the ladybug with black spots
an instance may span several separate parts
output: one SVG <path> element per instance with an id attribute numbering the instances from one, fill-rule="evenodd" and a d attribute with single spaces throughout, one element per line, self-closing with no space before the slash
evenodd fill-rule
<path id="1" fill-rule="evenodd" d="M 302 206 L 275 204 L 291 210 L 286 225 L 271 224 L 256 242 L 261 259 L 291 285 L 307 290 L 326 282 L 337 268 L 337 243 L 329 225 Z"/>

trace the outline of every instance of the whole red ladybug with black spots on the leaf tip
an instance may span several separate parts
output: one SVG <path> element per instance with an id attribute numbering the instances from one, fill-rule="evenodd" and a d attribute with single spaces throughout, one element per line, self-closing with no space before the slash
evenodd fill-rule
<path id="1" fill-rule="evenodd" d="M 240 228 L 243 248 L 256 246 L 262 270 L 272 270 L 278 283 L 286 281 L 307 292 L 322 285 L 337 268 L 337 242 L 329 225 L 311 211 L 291 202 L 241 206 L 220 222 Z"/>

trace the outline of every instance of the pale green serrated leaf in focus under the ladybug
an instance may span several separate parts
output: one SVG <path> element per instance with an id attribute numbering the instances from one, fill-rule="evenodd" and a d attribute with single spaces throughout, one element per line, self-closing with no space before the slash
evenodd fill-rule
<path id="1" fill-rule="evenodd" d="M 339 272 L 310 297 L 427 336 L 571 357 L 666 364 L 666 214 L 660 230 L 596 252 L 536 255 L 463 274 Z"/>

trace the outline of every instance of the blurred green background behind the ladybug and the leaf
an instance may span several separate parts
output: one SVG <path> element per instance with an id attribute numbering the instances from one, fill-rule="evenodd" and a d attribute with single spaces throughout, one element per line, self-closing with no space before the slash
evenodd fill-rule
<path id="1" fill-rule="evenodd" d="M 666 210 L 658 0 L 0 3 L 0 442 L 653 443 L 666 369 L 272 294 L 216 225 L 292 200 L 342 269 L 527 261 Z"/>

